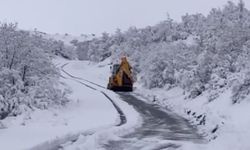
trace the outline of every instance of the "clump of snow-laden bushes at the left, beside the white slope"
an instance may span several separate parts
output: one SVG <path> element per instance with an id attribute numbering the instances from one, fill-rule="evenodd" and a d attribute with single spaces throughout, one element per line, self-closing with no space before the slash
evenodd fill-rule
<path id="1" fill-rule="evenodd" d="M 50 41 L 18 30 L 17 24 L 0 24 L 0 119 L 67 102 L 50 58 L 53 45 L 45 43 Z"/>

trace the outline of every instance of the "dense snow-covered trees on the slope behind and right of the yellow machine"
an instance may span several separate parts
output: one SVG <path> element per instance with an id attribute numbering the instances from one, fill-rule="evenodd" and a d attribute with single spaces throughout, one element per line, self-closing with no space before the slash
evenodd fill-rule
<path id="1" fill-rule="evenodd" d="M 179 86 L 194 98 L 206 90 L 213 93 L 229 88 L 233 80 L 239 80 L 236 74 L 247 76 L 249 16 L 243 1 L 229 1 L 207 16 L 186 14 L 181 22 L 167 18 L 154 26 L 130 27 L 79 42 L 78 57 L 101 61 L 103 56 L 119 59 L 125 54 L 146 87 Z"/>

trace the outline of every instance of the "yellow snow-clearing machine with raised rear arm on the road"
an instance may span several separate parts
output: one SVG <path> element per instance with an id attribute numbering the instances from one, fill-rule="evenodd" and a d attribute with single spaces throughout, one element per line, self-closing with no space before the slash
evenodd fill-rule
<path id="1" fill-rule="evenodd" d="M 126 57 L 121 58 L 120 64 L 111 67 L 108 89 L 113 91 L 133 91 L 132 67 Z"/>

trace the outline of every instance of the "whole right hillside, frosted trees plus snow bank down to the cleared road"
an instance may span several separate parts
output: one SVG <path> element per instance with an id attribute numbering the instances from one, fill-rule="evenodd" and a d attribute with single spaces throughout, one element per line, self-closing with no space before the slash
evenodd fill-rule
<path id="1" fill-rule="evenodd" d="M 77 54 L 96 62 L 127 55 L 137 93 L 186 116 L 210 141 L 208 149 L 247 150 L 249 15 L 243 1 L 228 2 L 207 16 L 186 14 L 181 22 L 168 18 L 79 42 Z"/>

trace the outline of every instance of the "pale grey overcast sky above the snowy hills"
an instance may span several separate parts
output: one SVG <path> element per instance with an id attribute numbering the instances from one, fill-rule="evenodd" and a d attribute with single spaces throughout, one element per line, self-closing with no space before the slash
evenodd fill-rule
<path id="1" fill-rule="evenodd" d="M 47 33 L 100 34 L 145 27 L 185 13 L 207 14 L 228 0 L 0 0 L 0 21 Z M 238 2 L 238 0 L 232 0 Z M 245 0 L 250 8 L 250 0 Z"/>

